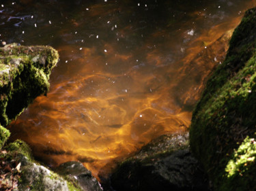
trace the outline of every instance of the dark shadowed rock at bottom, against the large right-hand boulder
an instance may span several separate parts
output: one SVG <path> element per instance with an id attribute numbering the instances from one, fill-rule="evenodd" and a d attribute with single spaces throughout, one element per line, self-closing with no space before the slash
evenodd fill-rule
<path id="1" fill-rule="evenodd" d="M 208 180 L 188 150 L 188 134 L 163 135 L 119 164 L 111 176 L 116 191 L 209 190 Z"/>

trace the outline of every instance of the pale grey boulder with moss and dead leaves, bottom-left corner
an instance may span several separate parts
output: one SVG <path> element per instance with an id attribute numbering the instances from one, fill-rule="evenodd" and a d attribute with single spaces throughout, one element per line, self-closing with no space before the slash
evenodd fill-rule
<path id="1" fill-rule="evenodd" d="M 5 190 L 81 191 L 71 181 L 33 160 L 24 141 L 14 141 L 3 147 L 0 162 L 0 188 Z"/>

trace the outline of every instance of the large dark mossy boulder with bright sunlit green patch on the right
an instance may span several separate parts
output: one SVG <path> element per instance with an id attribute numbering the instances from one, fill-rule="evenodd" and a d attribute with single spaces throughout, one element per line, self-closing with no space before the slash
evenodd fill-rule
<path id="1" fill-rule="evenodd" d="M 256 8 L 235 29 L 193 112 L 190 148 L 215 190 L 256 190 Z"/>

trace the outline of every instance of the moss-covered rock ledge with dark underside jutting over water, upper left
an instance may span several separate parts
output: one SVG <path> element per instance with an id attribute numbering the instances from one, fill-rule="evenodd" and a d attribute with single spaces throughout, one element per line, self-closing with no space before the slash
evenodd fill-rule
<path id="1" fill-rule="evenodd" d="M 49 89 L 49 75 L 59 54 L 50 46 L 0 48 L 0 124 L 6 126 Z"/>

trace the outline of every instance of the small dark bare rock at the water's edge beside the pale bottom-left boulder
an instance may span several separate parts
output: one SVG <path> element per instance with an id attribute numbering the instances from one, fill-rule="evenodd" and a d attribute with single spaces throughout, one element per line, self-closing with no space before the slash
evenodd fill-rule
<path id="1" fill-rule="evenodd" d="M 91 171 L 83 167 L 81 162 L 65 162 L 60 164 L 55 171 L 60 175 L 66 176 L 70 181 L 78 184 L 83 190 L 102 191 L 98 180 L 91 175 Z"/>

